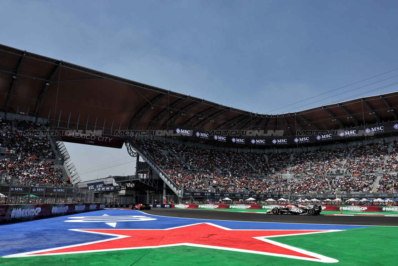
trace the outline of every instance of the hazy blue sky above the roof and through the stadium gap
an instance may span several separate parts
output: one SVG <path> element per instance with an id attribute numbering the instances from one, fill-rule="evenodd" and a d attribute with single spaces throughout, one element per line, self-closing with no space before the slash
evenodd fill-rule
<path id="1" fill-rule="evenodd" d="M 1 4 L 3 45 L 242 110 L 284 113 L 398 90 L 380 89 L 398 82 L 397 1 Z M 66 147 L 84 180 L 134 173 L 125 148 Z M 130 163 L 92 171 L 121 162 Z"/>

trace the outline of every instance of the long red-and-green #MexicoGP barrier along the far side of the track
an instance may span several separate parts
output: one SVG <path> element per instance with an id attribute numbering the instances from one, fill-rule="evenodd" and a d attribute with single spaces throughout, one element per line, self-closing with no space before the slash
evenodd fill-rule
<path id="1" fill-rule="evenodd" d="M 286 204 L 287 205 L 287 204 Z M 272 209 L 286 205 L 259 205 L 259 204 L 174 204 L 176 209 Z M 376 211 L 398 212 L 398 207 L 393 206 L 347 206 L 347 205 L 322 205 L 322 211 Z"/>

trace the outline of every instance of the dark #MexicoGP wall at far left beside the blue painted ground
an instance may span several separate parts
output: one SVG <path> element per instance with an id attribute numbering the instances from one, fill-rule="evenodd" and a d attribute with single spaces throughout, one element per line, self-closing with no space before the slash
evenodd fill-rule
<path id="1" fill-rule="evenodd" d="M 41 219 L 104 208 L 102 203 L 0 205 L 0 224 Z"/>

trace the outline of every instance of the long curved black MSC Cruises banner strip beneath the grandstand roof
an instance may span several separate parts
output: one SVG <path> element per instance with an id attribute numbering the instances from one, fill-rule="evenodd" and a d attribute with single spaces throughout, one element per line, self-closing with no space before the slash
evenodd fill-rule
<path id="1" fill-rule="evenodd" d="M 183 127 L 170 126 L 174 136 L 186 136 L 219 143 L 236 145 L 297 145 L 302 143 L 317 143 L 322 141 L 338 141 L 354 137 L 373 137 L 380 133 L 398 132 L 398 123 L 357 127 L 347 130 L 308 130 L 298 131 L 295 137 L 284 137 L 282 132 L 263 130 L 213 130 L 199 131 Z"/>

